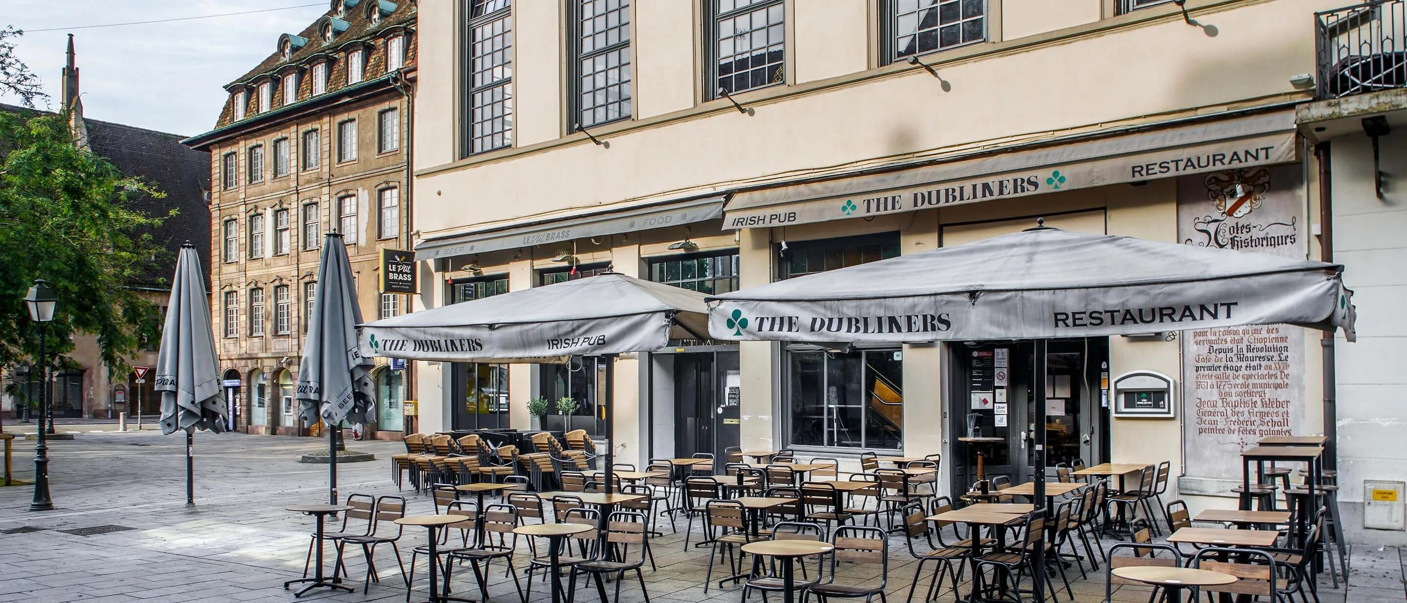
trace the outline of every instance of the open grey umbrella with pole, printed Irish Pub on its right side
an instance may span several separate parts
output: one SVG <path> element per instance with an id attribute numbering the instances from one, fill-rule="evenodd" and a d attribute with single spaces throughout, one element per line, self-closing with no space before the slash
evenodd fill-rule
<path id="1" fill-rule="evenodd" d="M 563 362 L 567 356 L 613 356 L 704 340 L 704 294 L 619 273 L 542 287 L 367 323 L 362 354 L 442 362 Z M 606 362 L 605 482 L 612 479 L 612 362 Z"/>

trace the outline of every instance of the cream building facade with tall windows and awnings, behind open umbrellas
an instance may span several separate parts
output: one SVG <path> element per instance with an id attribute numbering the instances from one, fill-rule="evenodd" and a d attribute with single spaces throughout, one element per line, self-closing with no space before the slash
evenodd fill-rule
<path id="1" fill-rule="evenodd" d="M 1294 107 L 1314 97 L 1311 25 L 1334 4 L 425 3 L 418 307 L 605 269 L 726 292 L 1037 217 L 1316 258 L 1318 176 Z M 1231 340 L 1273 348 L 1273 366 L 1214 349 Z M 976 449 L 958 440 L 972 416 L 1003 438 L 982 451 L 989 472 L 1030 476 L 1029 342 L 715 344 L 615 361 L 622 461 L 727 445 L 843 466 L 864 451 L 941 455 L 941 489 L 958 492 L 974 479 Z M 1166 461 L 1164 502 L 1234 507 L 1241 445 L 1324 430 L 1318 335 L 1294 327 L 1052 354 L 1051 462 Z M 1109 407 L 1138 371 L 1171 379 L 1171 417 Z M 526 430 L 528 400 L 561 396 L 584 402 L 570 427 L 595 427 L 592 359 L 426 362 L 416 376 L 421 431 Z"/>

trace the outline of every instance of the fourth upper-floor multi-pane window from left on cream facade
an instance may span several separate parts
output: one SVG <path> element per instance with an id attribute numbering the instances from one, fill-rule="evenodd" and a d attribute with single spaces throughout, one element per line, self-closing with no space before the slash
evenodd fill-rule
<path id="1" fill-rule="evenodd" d="M 986 39 L 986 0 L 889 0 L 891 59 Z"/>

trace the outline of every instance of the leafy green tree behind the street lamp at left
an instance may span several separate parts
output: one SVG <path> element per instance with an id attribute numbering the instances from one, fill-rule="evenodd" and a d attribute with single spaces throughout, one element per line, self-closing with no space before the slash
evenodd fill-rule
<path id="1" fill-rule="evenodd" d="M 127 358 L 160 338 L 159 309 L 128 287 L 166 252 L 149 234 L 162 217 L 132 204 L 141 196 L 163 193 L 79 147 L 66 114 L 0 110 L 0 366 L 38 355 L 23 300 L 34 279 L 58 294 L 51 358 L 93 335 L 101 361 L 124 373 Z"/>

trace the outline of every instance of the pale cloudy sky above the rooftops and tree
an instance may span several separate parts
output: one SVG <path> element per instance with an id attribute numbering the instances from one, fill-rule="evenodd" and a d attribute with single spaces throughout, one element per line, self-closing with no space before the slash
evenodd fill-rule
<path id="1" fill-rule="evenodd" d="M 49 94 L 48 108 L 59 108 L 66 34 L 73 34 L 84 117 L 180 135 L 211 130 L 227 97 L 224 85 L 269 56 L 279 34 L 301 31 L 329 6 L 328 0 L 3 3 L 6 10 L 0 15 L 0 27 L 25 30 L 15 55 L 44 80 L 45 93 Z M 297 8 L 145 25 L 79 28 L 284 7 Z M 20 104 L 11 94 L 0 94 L 0 103 Z"/>

